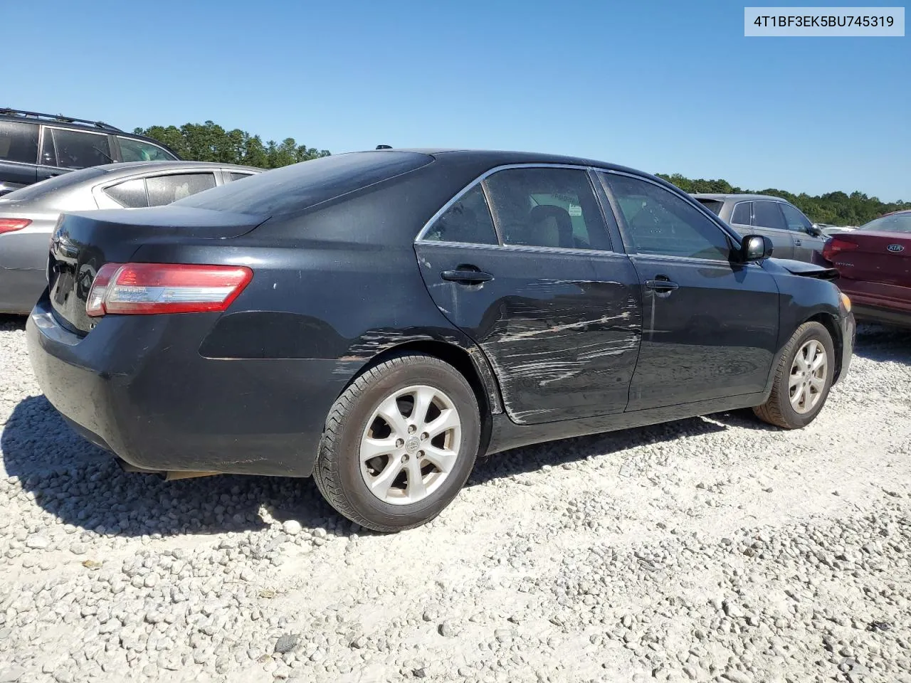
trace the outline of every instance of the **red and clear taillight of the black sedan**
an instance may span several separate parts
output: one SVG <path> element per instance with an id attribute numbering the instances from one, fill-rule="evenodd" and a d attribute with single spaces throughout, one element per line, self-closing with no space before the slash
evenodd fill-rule
<path id="1" fill-rule="evenodd" d="M 106 263 L 88 291 L 86 312 L 97 317 L 225 311 L 252 279 L 245 266 Z"/>

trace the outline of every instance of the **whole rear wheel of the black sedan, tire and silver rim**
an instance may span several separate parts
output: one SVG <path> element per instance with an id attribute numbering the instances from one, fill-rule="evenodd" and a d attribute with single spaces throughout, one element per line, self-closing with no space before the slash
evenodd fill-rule
<path id="1" fill-rule="evenodd" d="M 475 392 L 460 372 L 431 355 L 398 355 L 359 375 L 333 404 L 313 476 L 348 519 L 403 531 L 452 502 L 480 435 Z"/>

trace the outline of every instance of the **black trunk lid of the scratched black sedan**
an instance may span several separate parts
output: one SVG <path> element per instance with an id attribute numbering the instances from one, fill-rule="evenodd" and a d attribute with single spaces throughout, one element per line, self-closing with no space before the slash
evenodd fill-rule
<path id="1" fill-rule="evenodd" d="M 240 237 L 262 216 L 210 209 L 160 207 L 65 213 L 47 259 L 47 286 L 56 318 L 77 332 L 92 329 L 88 291 L 105 263 L 125 263 L 143 244 L 161 240 L 226 240 Z"/>

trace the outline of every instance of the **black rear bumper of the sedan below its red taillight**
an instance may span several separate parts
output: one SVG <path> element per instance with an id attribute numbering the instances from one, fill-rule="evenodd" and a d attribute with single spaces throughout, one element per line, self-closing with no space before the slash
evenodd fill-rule
<path id="1" fill-rule="evenodd" d="M 47 399 L 88 441 L 155 471 L 307 476 L 353 369 L 323 359 L 204 358 L 218 314 L 107 316 L 85 337 L 46 296 L 26 324 Z"/>

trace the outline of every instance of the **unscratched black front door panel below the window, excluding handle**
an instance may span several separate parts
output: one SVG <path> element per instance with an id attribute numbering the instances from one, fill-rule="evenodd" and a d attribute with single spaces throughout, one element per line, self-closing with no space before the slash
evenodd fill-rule
<path id="1" fill-rule="evenodd" d="M 632 257 L 642 342 L 628 410 L 762 392 L 778 337 L 778 289 L 755 264 Z M 678 289 L 651 290 L 648 280 Z"/>

